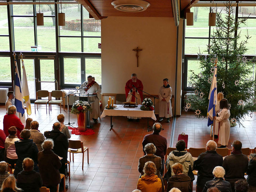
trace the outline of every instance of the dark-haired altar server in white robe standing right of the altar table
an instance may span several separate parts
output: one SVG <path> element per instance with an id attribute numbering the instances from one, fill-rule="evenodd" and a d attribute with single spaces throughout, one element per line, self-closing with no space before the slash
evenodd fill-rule
<path id="1" fill-rule="evenodd" d="M 172 89 L 168 84 L 168 79 L 163 79 L 163 86 L 160 87 L 158 96 L 159 96 L 159 120 L 163 121 L 163 117 L 167 118 L 166 122 L 170 122 L 170 117 L 172 117 L 171 111 L 171 95 Z"/>

